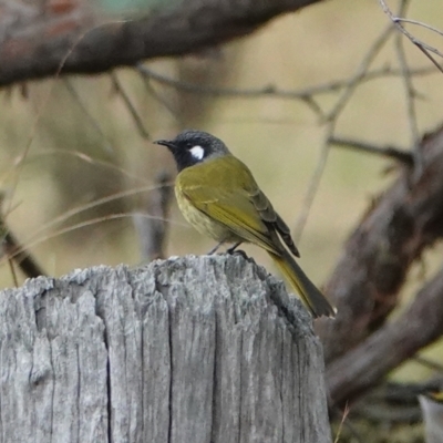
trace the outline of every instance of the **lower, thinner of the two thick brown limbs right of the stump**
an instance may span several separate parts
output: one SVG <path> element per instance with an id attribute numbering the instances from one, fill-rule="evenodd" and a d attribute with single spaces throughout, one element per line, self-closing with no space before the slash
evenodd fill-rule
<path id="1" fill-rule="evenodd" d="M 344 404 L 443 334 L 443 269 L 416 295 L 408 311 L 328 367 L 331 404 Z"/>

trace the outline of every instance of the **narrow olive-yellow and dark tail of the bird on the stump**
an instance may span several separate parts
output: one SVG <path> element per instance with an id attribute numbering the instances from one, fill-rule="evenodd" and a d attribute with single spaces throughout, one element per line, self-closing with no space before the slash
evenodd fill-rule
<path id="1" fill-rule="evenodd" d="M 296 260 L 285 250 L 282 256 L 269 253 L 281 274 L 300 296 L 313 318 L 321 316 L 336 317 L 337 309 L 328 301 L 320 290 L 309 280 Z"/>

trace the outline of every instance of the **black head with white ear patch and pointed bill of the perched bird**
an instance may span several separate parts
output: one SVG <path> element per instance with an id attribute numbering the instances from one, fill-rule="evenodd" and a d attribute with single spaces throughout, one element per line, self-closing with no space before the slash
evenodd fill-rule
<path id="1" fill-rule="evenodd" d="M 157 140 L 154 143 L 166 146 L 173 153 L 178 172 L 209 158 L 229 154 L 229 150 L 219 138 L 195 130 L 185 130 L 174 140 Z"/>

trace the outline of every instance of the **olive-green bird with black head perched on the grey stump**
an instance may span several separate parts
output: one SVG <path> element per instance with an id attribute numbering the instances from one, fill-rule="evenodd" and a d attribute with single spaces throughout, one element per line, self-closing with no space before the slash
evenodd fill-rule
<path id="1" fill-rule="evenodd" d="M 293 257 L 300 254 L 289 227 L 274 209 L 250 169 L 216 136 L 185 130 L 174 140 L 154 142 L 173 154 L 175 195 L 186 220 L 200 234 L 223 244 L 243 243 L 265 249 L 313 318 L 334 317 L 336 308 L 308 278 Z"/>

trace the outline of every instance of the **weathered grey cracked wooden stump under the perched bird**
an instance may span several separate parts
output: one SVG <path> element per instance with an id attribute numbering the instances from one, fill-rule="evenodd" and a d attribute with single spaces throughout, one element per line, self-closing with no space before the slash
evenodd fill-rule
<path id="1" fill-rule="evenodd" d="M 6 290 L 0 371 L 1 442 L 331 441 L 310 318 L 241 257 Z"/>

